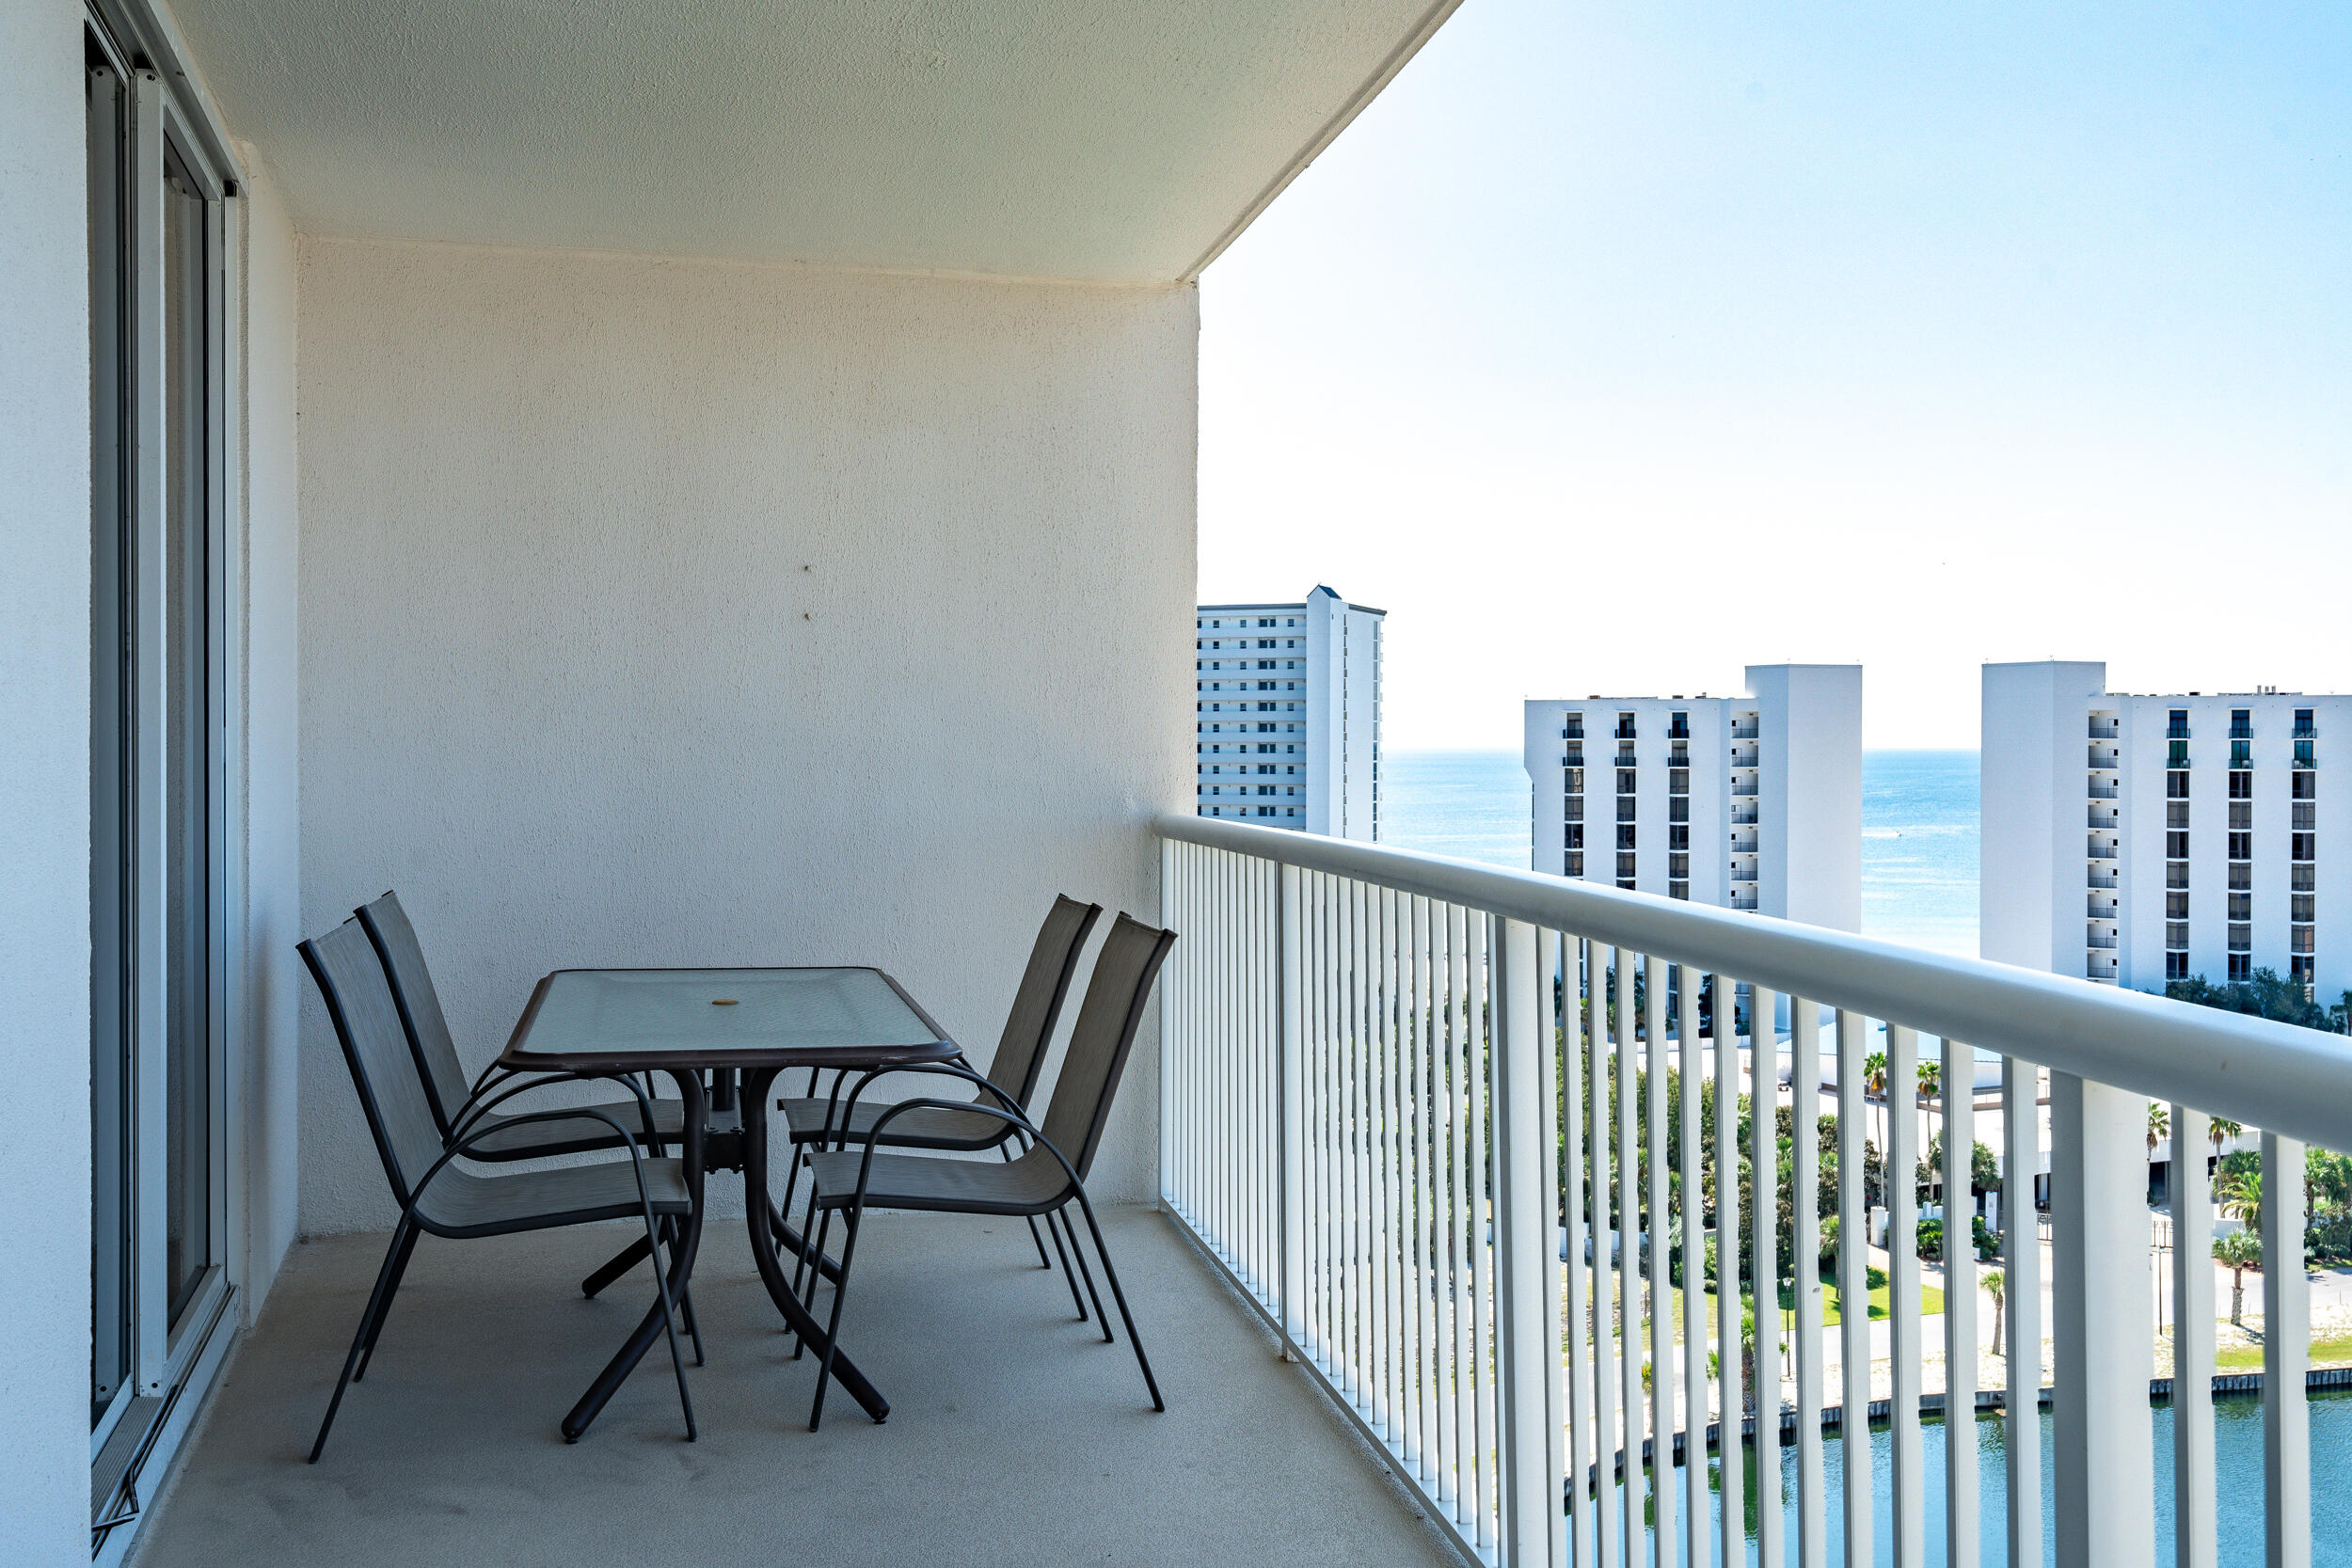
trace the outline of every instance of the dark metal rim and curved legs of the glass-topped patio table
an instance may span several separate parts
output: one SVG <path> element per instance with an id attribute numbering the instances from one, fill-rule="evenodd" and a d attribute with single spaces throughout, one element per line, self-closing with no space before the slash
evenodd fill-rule
<path id="1" fill-rule="evenodd" d="M 866 969 L 856 964 L 807 964 L 795 966 L 800 971 L 835 971 L 835 969 Z M 529 1006 L 522 1009 L 522 1018 L 515 1023 L 515 1032 L 506 1041 L 506 1051 L 494 1063 L 499 1072 L 663 1072 L 668 1074 L 684 1100 L 684 1173 L 687 1192 L 691 1197 L 694 1211 L 687 1218 L 684 1234 L 677 1237 L 670 1248 L 670 1300 L 684 1300 L 687 1281 L 694 1274 L 694 1255 L 703 1237 L 703 1175 L 713 1168 L 741 1171 L 743 1173 L 743 1220 L 750 1232 L 750 1255 L 760 1269 L 760 1284 L 767 1286 L 769 1300 L 776 1302 L 776 1312 L 783 1314 L 783 1326 L 790 1328 L 800 1340 L 823 1356 L 826 1352 L 826 1326 L 800 1305 L 793 1293 L 793 1281 L 783 1274 L 783 1262 L 779 1248 L 802 1246 L 797 1232 L 783 1222 L 776 1213 L 774 1199 L 769 1197 L 769 1135 L 767 1135 L 767 1112 L 774 1093 L 776 1074 L 793 1067 L 816 1067 L 821 1072 L 847 1070 L 847 1072 L 875 1072 L 884 1067 L 910 1067 L 922 1063 L 946 1063 L 962 1056 L 962 1048 L 948 1039 L 948 1032 L 906 994 L 887 971 L 870 969 L 880 976 L 898 1001 L 915 1013 L 922 1027 L 931 1030 L 931 1044 L 908 1046 L 710 1046 L 706 1051 L 696 1048 L 581 1048 L 581 1051 L 529 1051 L 527 1041 L 532 1034 L 532 1023 L 539 1018 L 539 1009 L 546 1001 L 548 987 L 557 976 L 564 973 L 673 973 L 661 969 L 607 969 L 607 971 L 576 971 L 557 969 L 541 976 L 539 985 L 532 990 Z M 675 971 L 691 973 L 691 971 Z M 786 969 L 736 969 L 729 973 L 788 973 Z M 706 1086 L 708 1074 L 708 1086 Z M 595 1295 L 607 1284 L 619 1279 L 623 1272 L 635 1267 L 649 1248 L 640 1241 L 623 1251 L 619 1258 L 600 1267 L 583 1281 L 583 1288 Z M 830 1260 L 823 1260 L 830 1262 Z M 830 1269 L 828 1269 L 830 1274 Z M 581 1394 L 579 1403 L 564 1415 L 564 1441 L 579 1441 L 588 1425 L 595 1422 L 597 1413 L 614 1396 L 621 1382 L 637 1368 L 637 1361 L 654 1347 L 661 1338 L 661 1302 L 656 1300 L 637 1328 L 628 1335 L 604 1371 L 597 1373 L 588 1392 Z M 842 1385 L 851 1399 L 873 1418 L 889 1418 L 889 1401 L 882 1392 L 856 1368 L 856 1363 L 842 1354 L 840 1347 L 833 1349 L 833 1378 Z"/>

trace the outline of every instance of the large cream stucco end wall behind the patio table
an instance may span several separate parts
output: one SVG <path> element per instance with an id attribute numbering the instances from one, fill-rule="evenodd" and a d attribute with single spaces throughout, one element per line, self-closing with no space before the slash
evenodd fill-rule
<path id="1" fill-rule="evenodd" d="M 1188 799 L 1190 289 L 301 244 L 301 879 L 468 1065 L 576 964 L 873 961 L 978 1056 Z M 1155 1190 L 1155 1041 L 1096 1187 Z M 306 1232 L 393 1211 L 303 1001 Z"/>

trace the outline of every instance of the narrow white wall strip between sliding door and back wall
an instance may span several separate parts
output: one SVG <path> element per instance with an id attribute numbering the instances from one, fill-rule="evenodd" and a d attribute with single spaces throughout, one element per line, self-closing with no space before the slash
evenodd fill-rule
<path id="1" fill-rule="evenodd" d="M 294 226 L 254 148 L 245 160 L 245 1321 L 296 1234 L 301 987 L 301 715 L 296 691 Z"/>

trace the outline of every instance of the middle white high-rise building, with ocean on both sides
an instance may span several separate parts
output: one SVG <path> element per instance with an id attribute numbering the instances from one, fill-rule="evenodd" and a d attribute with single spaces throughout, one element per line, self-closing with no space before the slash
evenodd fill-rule
<path id="1" fill-rule="evenodd" d="M 1748 665 L 1748 696 L 1531 701 L 1526 778 L 1536 870 L 1863 924 L 1860 665 Z"/>

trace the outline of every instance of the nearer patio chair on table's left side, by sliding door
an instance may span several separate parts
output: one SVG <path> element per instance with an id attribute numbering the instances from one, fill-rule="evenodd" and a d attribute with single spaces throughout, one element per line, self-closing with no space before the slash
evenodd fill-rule
<path id="1" fill-rule="evenodd" d="M 548 1081 L 543 1077 L 492 1091 L 482 1105 L 459 1119 L 449 1135 L 442 1135 L 409 1056 L 390 980 L 360 922 L 346 919 L 327 936 L 301 943 L 296 952 L 310 969 L 310 978 L 318 980 L 334 1037 L 343 1046 L 343 1063 L 350 1067 L 353 1088 L 360 1093 L 360 1110 L 367 1114 L 367 1131 L 383 1159 L 383 1175 L 400 1204 L 400 1222 L 393 1227 L 393 1241 L 383 1253 L 367 1309 L 360 1312 L 360 1328 L 343 1356 L 343 1375 L 334 1382 L 327 1418 L 318 1425 L 318 1441 L 310 1443 L 310 1462 L 315 1465 L 327 1448 L 327 1432 L 343 1406 L 343 1389 L 365 1375 L 367 1361 L 374 1356 L 376 1335 L 383 1333 L 383 1319 L 390 1314 L 393 1295 L 400 1291 L 400 1276 L 409 1267 L 419 1234 L 430 1232 L 463 1241 L 602 1220 L 644 1222 L 644 1246 L 654 1258 L 654 1293 L 661 1300 L 663 1328 L 670 1335 L 670 1366 L 677 1373 L 677 1403 L 684 1410 L 687 1439 L 691 1441 L 694 1401 L 687 1394 L 687 1361 L 677 1347 L 677 1312 L 670 1302 L 659 1246 L 663 1225 L 682 1225 L 694 1213 L 684 1166 L 677 1159 L 647 1157 L 619 1117 L 595 1107 L 489 1119 L 499 1100 L 541 1086 Z M 652 1110 L 644 1107 L 642 1114 L 649 1117 Z M 626 1150 L 628 1161 L 612 1159 L 593 1166 L 496 1175 L 454 1164 L 459 1157 L 475 1159 L 480 1135 L 579 1117 L 604 1124 L 612 1145 Z"/>

